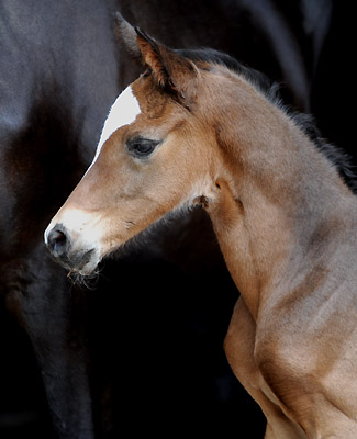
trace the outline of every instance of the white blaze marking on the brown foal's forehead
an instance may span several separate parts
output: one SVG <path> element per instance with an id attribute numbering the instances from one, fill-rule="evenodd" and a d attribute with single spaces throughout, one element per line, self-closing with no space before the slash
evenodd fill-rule
<path id="1" fill-rule="evenodd" d="M 122 126 L 133 123 L 138 114 L 141 114 L 141 108 L 137 99 L 134 97 L 132 88 L 126 87 L 126 89 L 116 98 L 115 102 L 110 109 L 100 135 L 96 156 L 87 172 L 94 165 L 104 143 L 110 138 L 110 136 Z"/>

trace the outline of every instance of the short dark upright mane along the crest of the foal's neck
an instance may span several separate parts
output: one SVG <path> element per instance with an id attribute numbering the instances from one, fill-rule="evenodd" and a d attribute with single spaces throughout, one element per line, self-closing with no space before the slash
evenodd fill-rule
<path id="1" fill-rule="evenodd" d="M 283 104 L 279 93 L 280 86 L 277 82 L 271 81 L 263 72 L 247 67 L 232 56 L 215 49 L 193 48 L 178 49 L 176 52 L 193 63 L 224 66 L 255 86 L 271 103 L 285 110 L 285 112 L 313 142 L 315 147 L 334 165 L 348 188 L 357 194 L 357 179 L 349 155 L 342 148 L 327 142 L 322 136 L 316 122 L 311 114 L 301 113 Z"/>

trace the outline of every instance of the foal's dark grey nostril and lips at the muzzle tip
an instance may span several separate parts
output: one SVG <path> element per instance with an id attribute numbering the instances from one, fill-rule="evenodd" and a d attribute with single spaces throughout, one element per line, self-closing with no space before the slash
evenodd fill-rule
<path id="1" fill-rule="evenodd" d="M 46 230 L 45 243 L 54 259 L 67 270 L 89 274 L 97 267 L 94 249 L 75 249 L 70 234 L 62 224 Z"/>

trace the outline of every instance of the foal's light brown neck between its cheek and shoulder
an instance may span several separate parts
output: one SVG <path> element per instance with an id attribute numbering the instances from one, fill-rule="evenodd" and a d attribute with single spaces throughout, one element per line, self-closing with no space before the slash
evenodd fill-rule
<path id="1" fill-rule="evenodd" d="M 220 132 L 219 198 L 208 212 L 231 275 L 256 318 L 281 279 L 306 266 L 321 229 L 321 239 L 330 239 L 330 225 L 344 221 L 355 199 L 280 109 L 264 102 L 253 111 L 249 119 L 244 109 L 245 120 L 238 111 L 233 128 Z"/>

